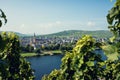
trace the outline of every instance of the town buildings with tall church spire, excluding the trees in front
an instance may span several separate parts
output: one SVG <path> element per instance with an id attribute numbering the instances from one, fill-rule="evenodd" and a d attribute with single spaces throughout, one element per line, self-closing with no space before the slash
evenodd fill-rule
<path id="1" fill-rule="evenodd" d="M 108 39 L 97 39 L 94 37 L 97 42 L 105 42 Z M 76 43 L 79 37 L 37 37 L 34 33 L 34 36 L 32 37 L 22 37 L 20 38 L 20 44 L 23 47 L 26 47 L 27 45 L 33 46 L 34 49 L 40 48 L 41 46 L 49 46 L 50 44 L 60 44 L 65 45 L 67 43 Z"/>

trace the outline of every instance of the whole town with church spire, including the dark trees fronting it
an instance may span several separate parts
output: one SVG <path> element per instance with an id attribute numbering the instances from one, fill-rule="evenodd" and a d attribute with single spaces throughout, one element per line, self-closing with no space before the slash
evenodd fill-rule
<path id="1" fill-rule="evenodd" d="M 108 38 L 98 39 L 97 42 L 107 42 Z M 21 37 L 20 45 L 22 47 L 31 46 L 32 50 L 38 48 L 44 50 L 72 50 L 80 37 L 37 37 L 34 33 L 31 37 Z"/>

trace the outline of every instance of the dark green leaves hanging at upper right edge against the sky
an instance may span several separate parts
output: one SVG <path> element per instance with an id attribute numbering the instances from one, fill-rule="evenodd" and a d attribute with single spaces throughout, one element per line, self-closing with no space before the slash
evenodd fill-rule
<path id="1" fill-rule="evenodd" d="M 109 23 L 108 28 L 114 34 L 110 39 L 113 42 L 120 37 L 120 0 L 116 0 L 115 6 L 109 11 L 107 21 Z"/>

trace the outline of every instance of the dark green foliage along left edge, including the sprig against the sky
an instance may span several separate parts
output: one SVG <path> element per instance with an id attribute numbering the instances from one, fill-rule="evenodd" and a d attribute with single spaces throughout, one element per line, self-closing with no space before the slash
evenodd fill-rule
<path id="1" fill-rule="evenodd" d="M 2 19 L 7 22 L 2 10 Z M 14 33 L 2 32 L 0 34 L 0 80 L 31 80 L 34 79 L 30 63 L 20 56 L 20 42 Z"/>

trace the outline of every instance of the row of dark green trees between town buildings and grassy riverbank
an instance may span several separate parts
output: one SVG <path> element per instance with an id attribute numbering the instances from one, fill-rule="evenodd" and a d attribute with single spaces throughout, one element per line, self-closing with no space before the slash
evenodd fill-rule
<path id="1" fill-rule="evenodd" d="M 50 45 L 47 45 L 47 46 L 40 46 L 40 47 L 37 47 L 37 48 L 34 48 L 33 46 L 31 45 L 27 45 L 25 47 L 21 46 L 20 47 L 20 50 L 21 52 L 41 52 L 41 51 L 50 51 L 50 50 L 61 50 L 61 51 L 70 51 L 73 49 L 75 44 L 73 43 L 68 43 L 68 44 L 50 44 Z"/>

